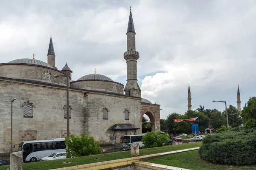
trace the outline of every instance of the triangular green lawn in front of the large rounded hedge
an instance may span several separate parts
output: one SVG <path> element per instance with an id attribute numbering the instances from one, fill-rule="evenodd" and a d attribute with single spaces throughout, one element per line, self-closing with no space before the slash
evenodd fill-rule
<path id="1" fill-rule="evenodd" d="M 173 167 L 187 168 L 190 170 L 256 170 L 256 164 L 235 166 L 213 164 L 211 162 L 204 161 L 200 159 L 198 150 L 161 156 L 144 161 Z"/>

